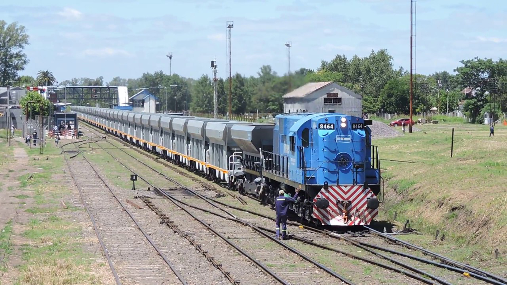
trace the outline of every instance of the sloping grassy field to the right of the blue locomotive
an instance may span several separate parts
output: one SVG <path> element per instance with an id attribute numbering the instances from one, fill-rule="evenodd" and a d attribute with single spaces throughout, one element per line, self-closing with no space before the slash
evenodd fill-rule
<path id="1" fill-rule="evenodd" d="M 453 157 L 451 131 L 454 127 Z M 422 131 L 376 139 L 385 203 L 377 220 L 407 219 L 413 228 L 449 243 L 479 246 L 484 255 L 507 243 L 507 128 L 497 125 L 495 138 L 478 124 L 422 125 Z M 382 161 L 411 160 L 417 163 Z"/>

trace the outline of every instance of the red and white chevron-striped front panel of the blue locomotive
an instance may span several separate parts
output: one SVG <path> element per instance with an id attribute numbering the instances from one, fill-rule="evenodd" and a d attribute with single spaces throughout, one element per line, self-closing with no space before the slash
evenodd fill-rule
<path id="1" fill-rule="evenodd" d="M 322 225 L 369 225 L 378 214 L 378 208 L 372 210 L 367 207 L 367 198 L 369 197 L 375 197 L 375 195 L 370 188 L 363 190 L 363 185 L 329 186 L 328 190 L 322 188 L 313 198 L 313 202 L 324 198 L 329 201 L 329 207 L 319 209 L 314 204 L 313 218 L 318 219 Z M 347 205 L 346 222 L 344 221 L 345 207 L 341 201 L 350 201 Z"/>

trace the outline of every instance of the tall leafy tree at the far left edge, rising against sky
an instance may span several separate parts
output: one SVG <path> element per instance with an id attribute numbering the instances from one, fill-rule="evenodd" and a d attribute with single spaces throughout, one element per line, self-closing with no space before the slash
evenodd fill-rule
<path id="1" fill-rule="evenodd" d="M 17 22 L 7 25 L 0 20 L 0 86 L 15 81 L 18 72 L 25 69 L 29 60 L 23 50 L 29 45 L 28 40 L 24 26 L 18 26 Z"/>

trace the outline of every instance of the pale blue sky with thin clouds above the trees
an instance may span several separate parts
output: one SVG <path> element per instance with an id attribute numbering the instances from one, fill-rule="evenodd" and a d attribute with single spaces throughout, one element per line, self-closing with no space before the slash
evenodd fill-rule
<path id="1" fill-rule="evenodd" d="M 21 75 L 50 69 L 60 82 L 169 73 L 168 52 L 173 73 L 211 76 L 216 56 L 219 76 L 227 77 L 226 21 L 234 21 L 233 73 L 255 75 L 263 64 L 286 73 L 287 41 L 292 70 L 381 48 L 395 67 L 410 67 L 410 0 L 3 0 L 0 11 L 30 35 L 30 63 Z M 501 0 L 417 1 L 417 72 L 505 57 L 506 14 Z"/>

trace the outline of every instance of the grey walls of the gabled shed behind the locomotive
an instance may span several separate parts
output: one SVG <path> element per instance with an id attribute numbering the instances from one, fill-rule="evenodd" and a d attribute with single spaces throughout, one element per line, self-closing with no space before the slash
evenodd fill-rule
<path id="1" fill-rule="evenodd" d="M 326 93 L 338 93 L 339 98 L 342 98 L 341 104 L 324 104 Z M 335 110 L 334 113 L 361 117 L 362 107 L 360 95 L 338 84 L 330 84 L 305 97 L 283 99 L 283 112 L 291 113 L 296 113 L 300 110 L 314 113 L 328 113 L 329 110 Z"/>

